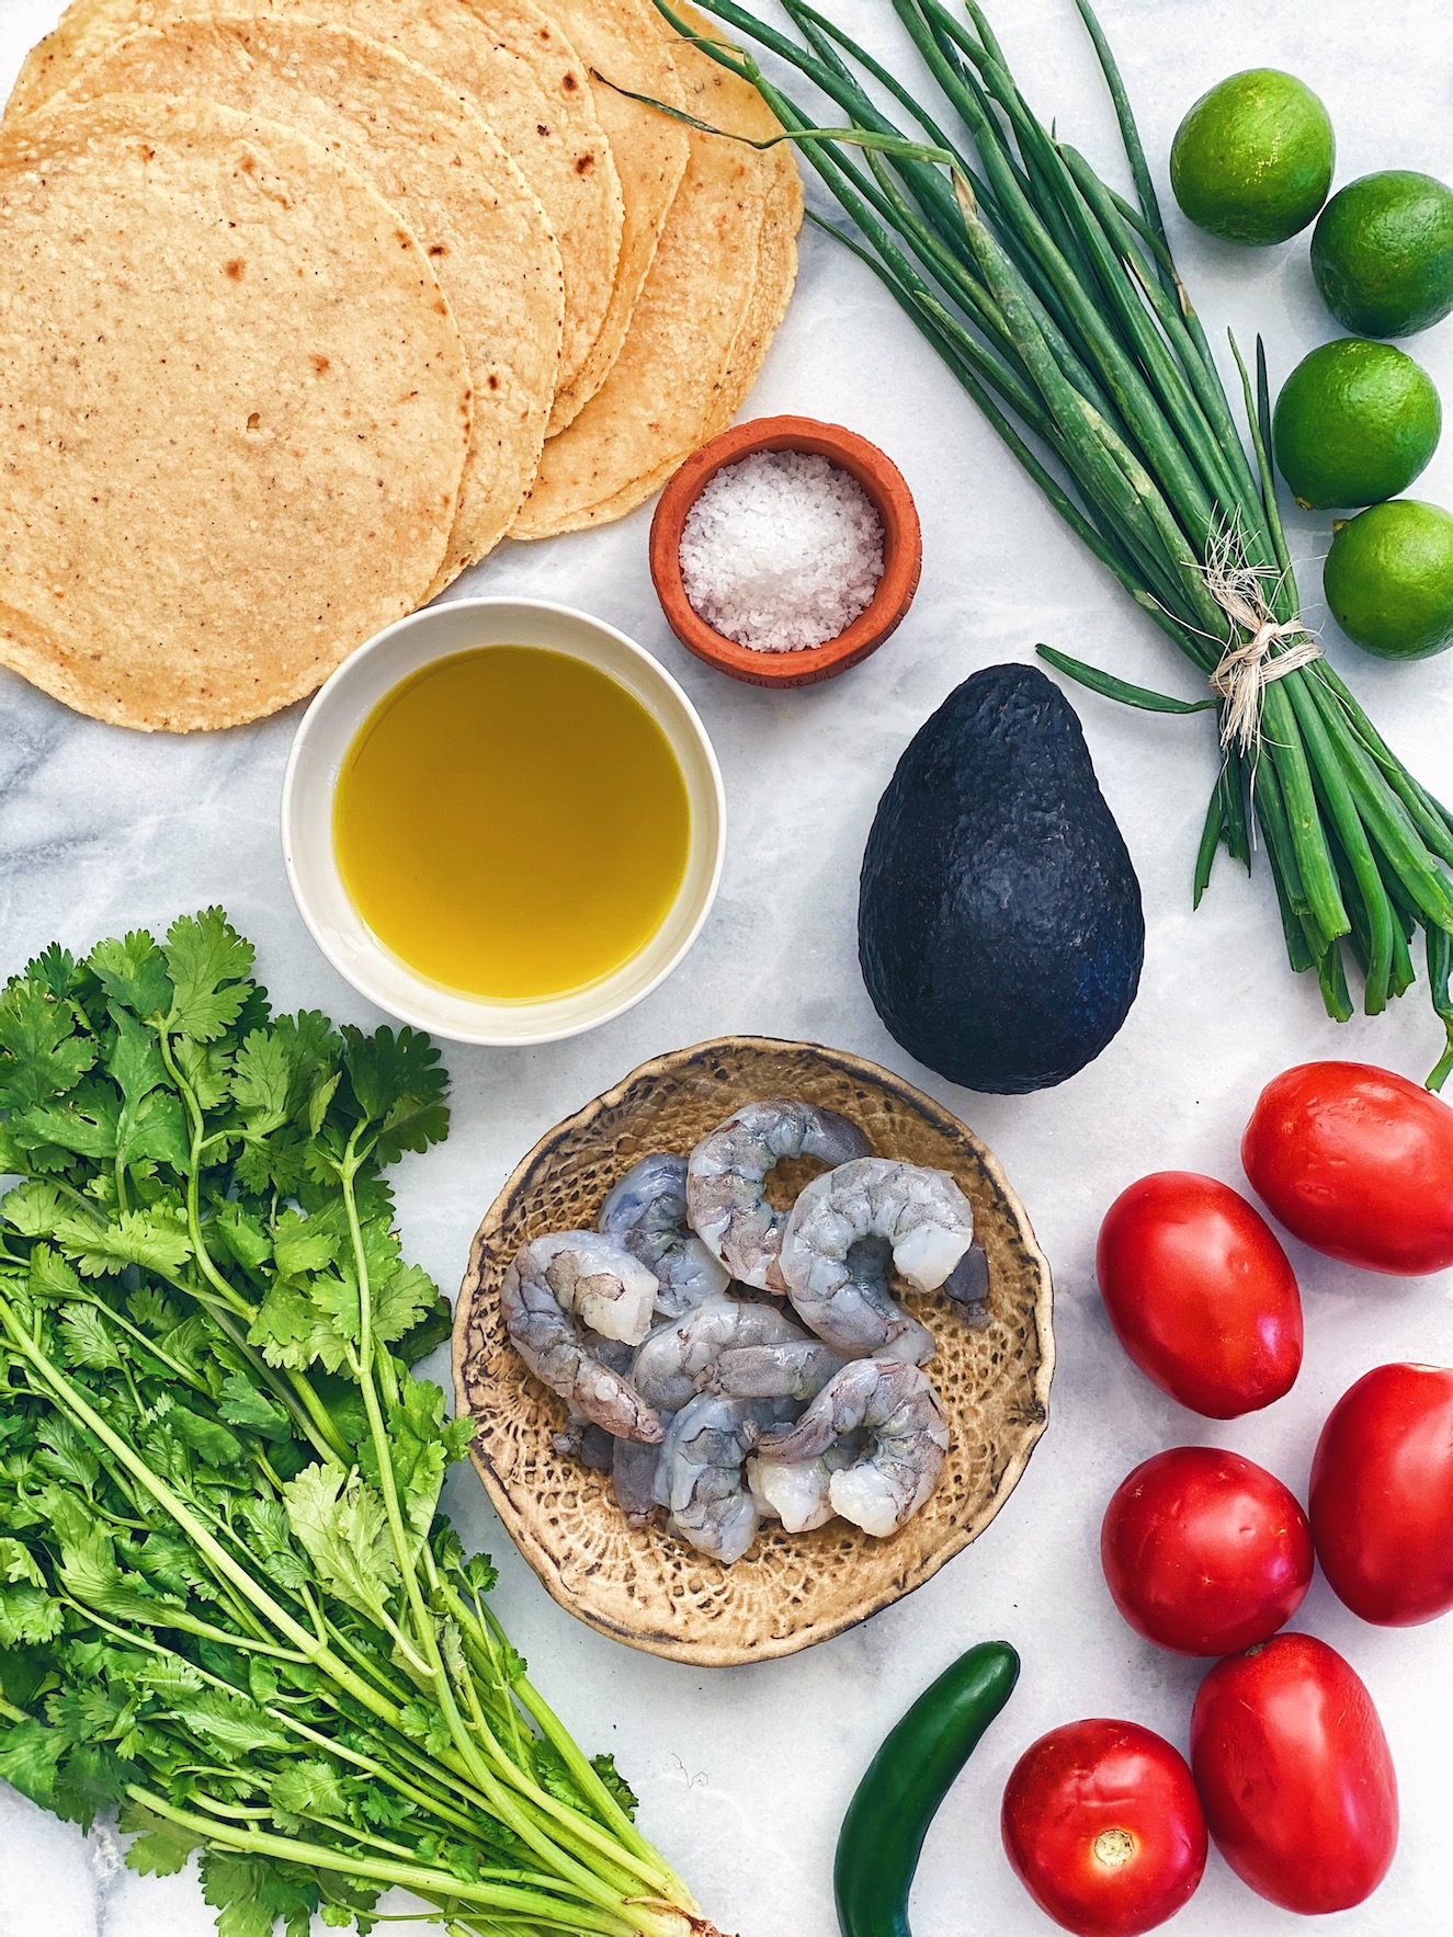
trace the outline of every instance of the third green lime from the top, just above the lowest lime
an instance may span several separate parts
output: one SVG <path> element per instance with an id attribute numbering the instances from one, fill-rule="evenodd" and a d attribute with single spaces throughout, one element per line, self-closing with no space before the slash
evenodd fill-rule
<path id="1" fill-rule="evenodd" d="M 1281 475 L 1306 509 L 1395 498 L 1434 455 L 1441 428 L 1428 372 L 1366 337 L 1304 356 L 1271 420 Z"/>

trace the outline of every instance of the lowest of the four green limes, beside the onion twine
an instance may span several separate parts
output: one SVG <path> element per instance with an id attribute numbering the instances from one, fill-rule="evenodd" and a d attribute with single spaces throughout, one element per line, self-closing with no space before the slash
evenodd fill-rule
<path id="1" fill-rule="evenodd" d="M 1337 531 L 1321 587 L 1348 639 L 1377 659 L 1428 659 L 1453 645 L 1453 517 L 1393 498 Z"/>

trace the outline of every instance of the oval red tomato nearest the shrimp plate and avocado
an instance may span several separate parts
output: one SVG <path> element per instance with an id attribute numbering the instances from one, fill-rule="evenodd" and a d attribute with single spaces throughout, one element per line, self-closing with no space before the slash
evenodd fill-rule
<path id="1" fill-rule="evenodd" d="M 1290 1391 L 1302 1294 L 1271 1226 L 1215 1178 L 1159 1170 L 1110 1205 L 1095 1253 L 1100 1298 L 1147 1379 L 1209 1420 Z"/>

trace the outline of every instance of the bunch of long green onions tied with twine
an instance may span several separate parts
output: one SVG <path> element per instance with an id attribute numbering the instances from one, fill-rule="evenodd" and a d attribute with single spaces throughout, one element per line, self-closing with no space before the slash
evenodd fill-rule
<path id="1" fill-rule="evenodd" d="M 812 219 L 881 279 L 1060 517 L 1209 682 L 1203 699 L 1170 699 L 1040 647 L 1108 697 L 1219 713 L 1195 905 L 1221 846 L 1248 868 L 1261 846 L 1292 968 L 1315 972 L 1337 1021 L 1352 1013 L 1348 957 L 1376 1015 L 1416 980 L 1422 934 L 1447 1036 L 1428 1083 L 1441 1087 L 1453 1069 L 1453 817 L 1389 750 L 1300 620 L 1261 343 L 1255 378 L 1232 343 L 1248 453 L 1089 0 L 1077 6 L 1133 200 L 1035 116 L 976 0 L 963 15 L 940 0 L 893 0 L 932 76 L 932 101 L 806 0 L 783 0 L 792 33 L 736 0 L 697 0 L 730 41 L 696 33 L 672 0 L 657 6 L 759 91 L 785 130 L 773 139 L 800 147 L 847 217 Z M 810 81 L 841 124 L 821 126 L 740 43 Z"/>

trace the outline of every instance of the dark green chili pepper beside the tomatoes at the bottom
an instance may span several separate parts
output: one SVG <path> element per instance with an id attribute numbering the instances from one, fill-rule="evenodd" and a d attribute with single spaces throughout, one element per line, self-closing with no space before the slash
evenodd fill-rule
<path id="1" fill-rule="evenodd" d="M 843 1937 L 912 1937 L 909 1889 L 928 1825 L 1019 1679 L 1007 1641 L 969 1648 L 924 1689 L 868 1765 L 837 1838 Z"/>

